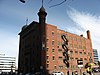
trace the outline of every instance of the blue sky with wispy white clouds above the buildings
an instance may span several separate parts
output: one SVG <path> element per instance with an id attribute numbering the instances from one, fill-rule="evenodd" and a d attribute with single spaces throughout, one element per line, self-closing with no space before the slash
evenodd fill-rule
<path id="1" fill-rule="evenodd" d="M 38 22 L 38 11 L 42 0 L 0 0 L 0 53 L 18 59 L 19 36 L 21 27 L 33 20 Z M 67 0 L 59 6 L 51 7 L 64 0 L 44 0 L 47 12 L 46 22 L 59 29 L 74 34 L 90 30 L 93 49 L 100 58 L 100 0 Z"/>

